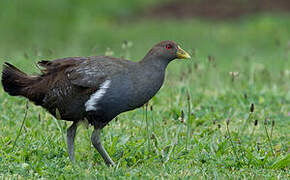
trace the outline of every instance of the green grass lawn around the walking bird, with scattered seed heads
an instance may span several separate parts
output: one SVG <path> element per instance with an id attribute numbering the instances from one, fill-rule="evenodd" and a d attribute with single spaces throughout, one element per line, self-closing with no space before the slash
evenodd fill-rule
<path id="1" fill-rule="evenodd" d="M 165 39 L 193 58 L 169 65 L 147 107 L 103 129 L 114 168 L 104 164 L 90 142 L 93 129 L 85 126 L 77 131 L 72 164 L 64 139 L 70 123 L 8 96 L 0 85 L 1 178 L 289 178 L 289 15 L 158 20 L 132 17 L 140 4 L 128 1 L 104 1 L 98 13 L 78 1 L 72 7 L 68 1 L 36 2 L 2 2 L 1 64 L 35 74 L 35 62 L 43 59 L 112 54 L 138 61 Z"/>

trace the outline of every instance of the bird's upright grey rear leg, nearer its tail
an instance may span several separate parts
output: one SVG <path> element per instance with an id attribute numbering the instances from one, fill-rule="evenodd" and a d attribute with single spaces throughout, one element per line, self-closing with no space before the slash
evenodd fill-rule
<path id="1" fill-rule="evenodd" d="M 77 122 L 73 122 L 73 124 L 67 129 L 67 148 L 69 158 L 72 162 L 75 161 L 75 136 L 77 131 Z"/>

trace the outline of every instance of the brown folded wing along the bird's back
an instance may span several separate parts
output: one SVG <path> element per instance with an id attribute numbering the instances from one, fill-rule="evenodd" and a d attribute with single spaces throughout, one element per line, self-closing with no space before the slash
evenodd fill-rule
<path id="1" fill-rule="evenodd" d="M 86 88 L 98 88 L 105 79 L 118 73 L 125 73 L 129 65 L 134 62 L 107 56 L 69 57 L 53 61 L 40 61 L 38 65 L 43 67 L 42 76 L 54 76 L 58 81 L 67 77 L 75 86 Z"/>

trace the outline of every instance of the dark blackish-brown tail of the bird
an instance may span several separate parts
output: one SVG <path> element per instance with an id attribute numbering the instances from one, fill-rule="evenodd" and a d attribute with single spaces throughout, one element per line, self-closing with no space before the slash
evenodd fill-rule
<path id="1" fill-rule="evenodd" d="M 2 85 L 11 96 L 24 96 L 39 104 L 41 94 L 34 88 L 39 80 L 38 76 L 29 76 L 8 62 L 3 65 Z"/>

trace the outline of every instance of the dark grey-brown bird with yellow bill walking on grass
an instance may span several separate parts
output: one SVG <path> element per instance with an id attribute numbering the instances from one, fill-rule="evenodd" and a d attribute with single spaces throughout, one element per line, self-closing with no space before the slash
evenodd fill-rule
<path id="1" fill-rule="evenodd" d="M 109 56 L 67 57 L 38 62 L 41 73 L 28 75 L 5 62 L 4 91 L 22 96 L 51 115 L 71 121 L 67 129 L 69 159 L 75 162 L 80 122 L 94 127 L 91 142 L 106 165 L 115 163 L 102 146 L 101 130 L 119 114 L 146 104 L 161 88 L 168 64 L 191 56 L 172 41 L 161 41 L 138 62 Z"/>

